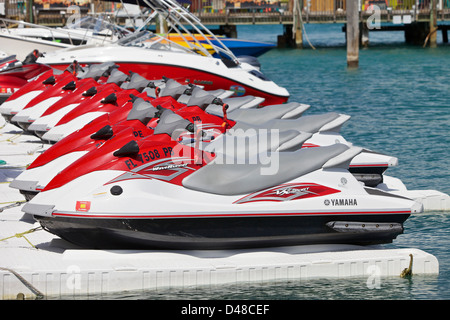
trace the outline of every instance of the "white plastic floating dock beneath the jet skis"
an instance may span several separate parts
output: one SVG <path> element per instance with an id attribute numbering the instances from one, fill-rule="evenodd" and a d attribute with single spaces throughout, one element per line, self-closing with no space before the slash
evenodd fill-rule
<path id="1" fill-rule="evenodd" d="M 16 136 L 11 132 L 17 129 L 8 126 L 0 129 L 0 159 L 7 162 L 0 169 L 0 208 L 24 200 L 8 183 L 48 147 L 32 136 Z M 436 202 L 431 199 L 435 192 L 421 192 L 416 195 L 425 209 L 439 202 L 444 206 L 439 210 L 450 210 L 447 195 L 442 194 Z M 29 230 L 35 231 L 16 236 Z M 399 277 L 409 267 L 410 255 L 413 275 L 439 273 L 438 260 L 415 248 L 313 245 L 215 251 L 81 250 L 40 229 L 20 206 L 0 212 L 1 299 L 68 298 L 244 282 Z"/>

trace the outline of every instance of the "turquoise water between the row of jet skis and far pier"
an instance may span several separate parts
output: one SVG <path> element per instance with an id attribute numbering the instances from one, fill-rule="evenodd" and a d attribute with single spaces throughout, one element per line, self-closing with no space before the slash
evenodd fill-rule
<path id="1" fill-rule="evenodd" d="M 403 33 L 378 32 L 387 42 L 360 50 L 359 68 L 349 70 L 345 47 L 320 46 L 327 27 L 330 43 L 345 44 L 338 26 L 308 25 L 316 50 L 272 50 L 259 58 L 264 73 L 310 113 L 352 116 L 343 136 L 398 157 L 388 173 L 409 189 L 450 193 L 450 46 L 406 46 Z"/>

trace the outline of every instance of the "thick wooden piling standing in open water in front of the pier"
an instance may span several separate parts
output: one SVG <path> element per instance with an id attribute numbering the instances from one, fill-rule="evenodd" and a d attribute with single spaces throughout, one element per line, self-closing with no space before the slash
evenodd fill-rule
<path id="1" fill-rule="evenodd" d="M 359 14 L 358 1 L 347 1 L 347 66 L 359 65 Z"/>

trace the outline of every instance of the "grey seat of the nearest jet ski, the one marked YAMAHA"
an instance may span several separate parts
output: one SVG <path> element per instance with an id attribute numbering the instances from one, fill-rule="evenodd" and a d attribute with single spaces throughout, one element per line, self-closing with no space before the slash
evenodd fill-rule
<path id="1" fill-rule="evenodd" d="M 261 174 L 264 165 L 217 164 L 213 160 L 183 179 L 183 186 L 219 195 L 244 195 L 264 190 L 312 171 L 320 169 L 328 160 L 342 154 L 349 147 L 334 144 L 320 148 L 306 148 L 294 152 L 279 152 L 276 174 Z"/>

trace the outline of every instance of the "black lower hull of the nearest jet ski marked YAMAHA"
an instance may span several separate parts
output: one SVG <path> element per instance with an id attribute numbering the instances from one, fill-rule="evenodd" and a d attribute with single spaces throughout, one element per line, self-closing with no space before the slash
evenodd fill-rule
<path id="1" fill-rule="evenodd" d="M 238 249 L 323 243 L 390 243 L 409 212 L 288 214 L 189 218 L 35 216 L 49 232 L 84 248 Z M 347 230 L 335 227 L 344 226 Z"/>

